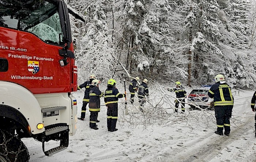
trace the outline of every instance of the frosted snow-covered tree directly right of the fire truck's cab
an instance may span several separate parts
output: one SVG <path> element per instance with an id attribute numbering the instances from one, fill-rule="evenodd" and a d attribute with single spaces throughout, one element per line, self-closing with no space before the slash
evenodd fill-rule
<path id="1" fill-rule="evenodd" d="M 87 19 L 84 26 L 76 34 L 76 64 L 82 80 L 90 74 L 97 79 L 105 80 L 113 77 L 116 63 L 114 50 L 111 48 L 106 15 L 98 1 L 76 1 L 75 7 Z M 78 5 L 79 4 L 79 5 Z"/>

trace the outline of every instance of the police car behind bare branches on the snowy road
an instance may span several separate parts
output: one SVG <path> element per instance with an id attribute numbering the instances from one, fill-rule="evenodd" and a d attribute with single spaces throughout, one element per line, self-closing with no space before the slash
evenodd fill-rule
<path id="1" fill-rule="evenodd" d="M 211 85 L 204 85 L 199 88 L 195 88 L 188 95 L 188 104 L 192 109 L 195 109 L 196 106 L 199 106 L 202 109 L 213 110 L 211 107 L 211 102 L 213 99 L 208 97 L 208 91 L 210 90 Z"/>

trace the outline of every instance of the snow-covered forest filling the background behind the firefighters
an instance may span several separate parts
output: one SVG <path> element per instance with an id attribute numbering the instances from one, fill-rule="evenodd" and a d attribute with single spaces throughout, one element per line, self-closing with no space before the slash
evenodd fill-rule
<path id="1" fill-rule="evenodd" d="M 185 85 L 256 82 L 254 0 L 67 0 L 79 82 L 131 76 Z M 123 67 L 121 66 L 123 65 Z M 127 79 L 127 78 L 126 78 Z"/>

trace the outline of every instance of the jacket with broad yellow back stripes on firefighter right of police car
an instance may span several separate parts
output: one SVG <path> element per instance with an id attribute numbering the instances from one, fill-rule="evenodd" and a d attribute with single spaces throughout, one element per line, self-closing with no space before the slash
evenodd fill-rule
<path id="1" fill-rule="evenodd" d="M 234 105 L 231 88 L 226 82 L 217 82 L 212 85 L 208 96 L 214 98 L 214 106 Z"/>

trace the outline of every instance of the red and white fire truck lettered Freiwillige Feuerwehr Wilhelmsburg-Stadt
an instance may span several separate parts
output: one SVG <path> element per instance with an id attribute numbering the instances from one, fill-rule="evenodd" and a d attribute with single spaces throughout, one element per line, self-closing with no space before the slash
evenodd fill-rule
<path id="1" fill-rule="evenodd" d="M 0 0 L 0 162 L 29 161 L 24 137 L 51 155 L 76 133 L 68 12 L 63 0 Z M 60 145 L 45 151 L 50 140 Z"/>

